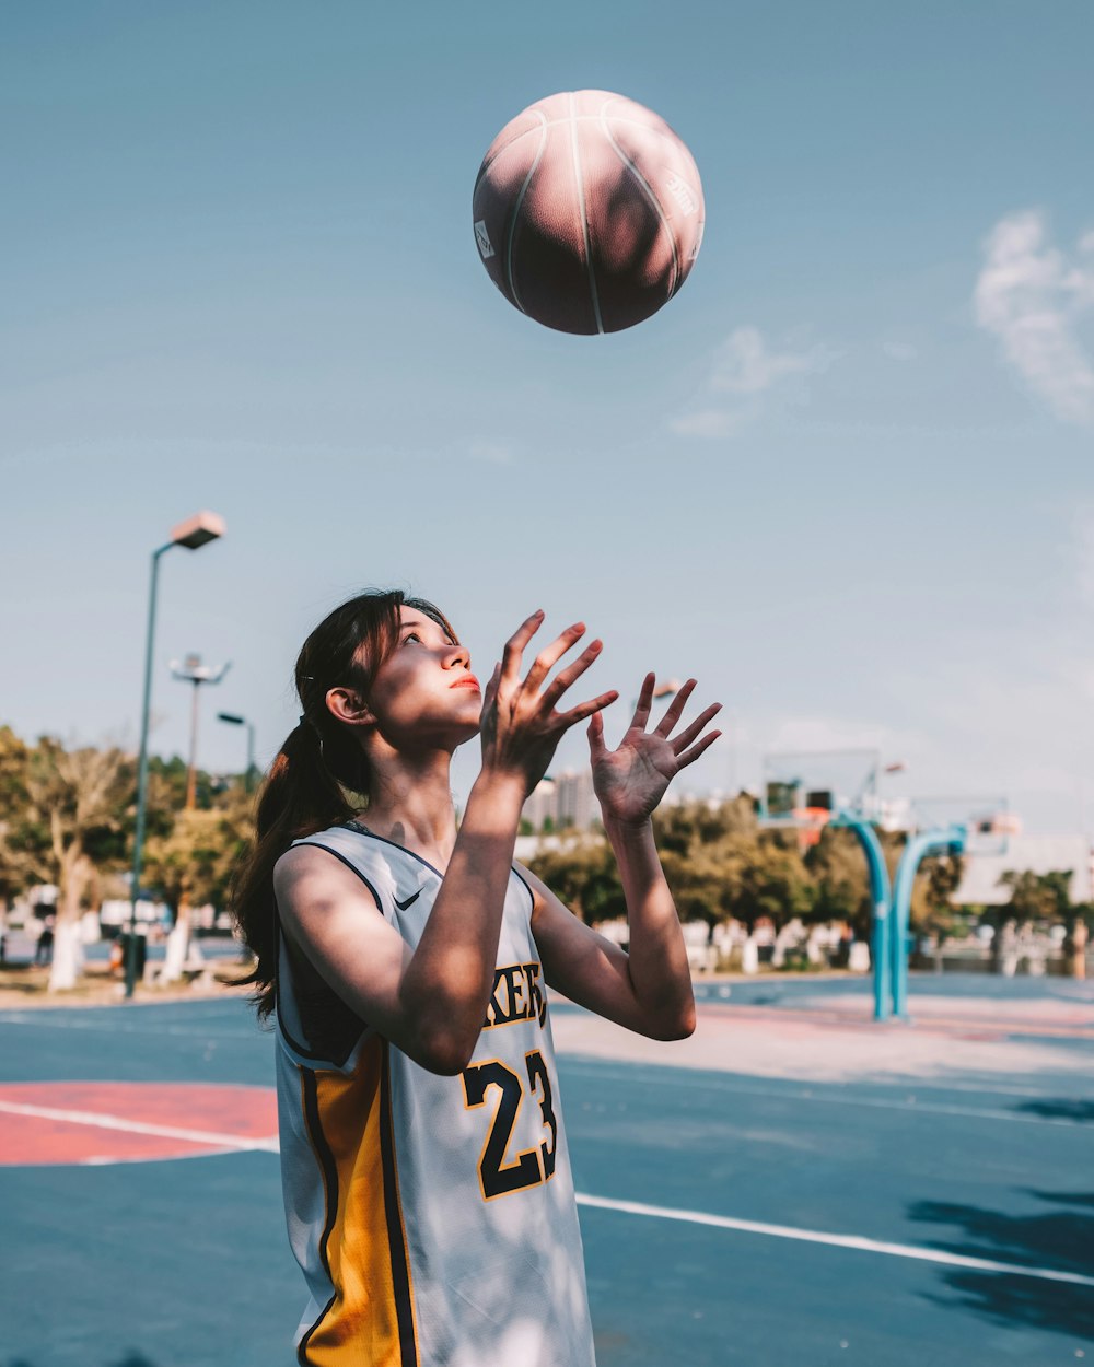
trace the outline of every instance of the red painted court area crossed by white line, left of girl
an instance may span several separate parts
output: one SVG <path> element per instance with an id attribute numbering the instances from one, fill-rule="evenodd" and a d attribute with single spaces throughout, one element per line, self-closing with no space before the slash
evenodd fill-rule
<path id="1" fill-rule="evenodd" d="M 0 1165 L 139 1163 L 276 1150 L 268 1087 L 208 1083 L 0 1085 Z"/>

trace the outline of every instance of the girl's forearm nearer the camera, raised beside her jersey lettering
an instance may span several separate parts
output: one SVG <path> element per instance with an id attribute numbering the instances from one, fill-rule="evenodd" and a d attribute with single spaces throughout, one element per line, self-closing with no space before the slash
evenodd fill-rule
<path id="1" fill-rule="evenodd" d="M 466 1061 L 485 1018 L 522 802 L 520 783 L 480 775 L 403 975 L 408 1016 L 427 1047 L 451 1065 Z"/>

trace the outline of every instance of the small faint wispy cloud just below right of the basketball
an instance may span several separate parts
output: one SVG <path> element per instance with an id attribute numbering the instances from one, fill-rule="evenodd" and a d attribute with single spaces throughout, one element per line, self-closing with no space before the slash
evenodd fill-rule
<path id="1" fill-rule="evenodd" d="M 703 388 L 704 406 L 671 418 L 669 428 L 681 436 L 718 439 L 732 436 L 762 411 L 762 395 L 795 376 L 827 369 L 836 353 L 823 346 L 796 350 L 788 343 L 771 349 L 759 328 L 734 328 L 714 354 Z M 721 395 L 733 395 L 726 402 Z"/>

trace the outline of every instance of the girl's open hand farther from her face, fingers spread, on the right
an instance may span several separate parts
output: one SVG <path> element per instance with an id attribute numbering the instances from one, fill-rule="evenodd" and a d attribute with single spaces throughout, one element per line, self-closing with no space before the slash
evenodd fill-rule
<path id="1" fill-rule="evenodd" d="M 661 723 L 652 731 L 647 731 L 654 704 L 654 685 L 655 675 L 647 674 L 635 716 L 618 749 L 609 750 L 604 746 L 604 723 L 599 712 L 589 722 L 592 787 L 600 801 L 604 824 L 615 822 L 624 826 L 640 826 L 647 822 L 665 797 L 665 790 L 673 778 L 697 760 L 722 734 L 721 731 L 702 734 L 722 709 L 721 703 L 711 703 L 680 735 L 673 735 L 695 689 L 695 679 L 688 679 L 669 704 Z"/>

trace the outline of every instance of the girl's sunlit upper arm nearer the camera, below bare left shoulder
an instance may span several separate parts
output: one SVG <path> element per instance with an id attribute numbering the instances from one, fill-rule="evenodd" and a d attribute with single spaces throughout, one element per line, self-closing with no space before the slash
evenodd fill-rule
<path id="1" fill-rule="evenodd" d="M 412 951 L 369 884 L 330 850 L 299 845 L 278 860 L 274 893 L 291 946 L 357 1016 L 413 1057 L 401 1009 Z"/>

